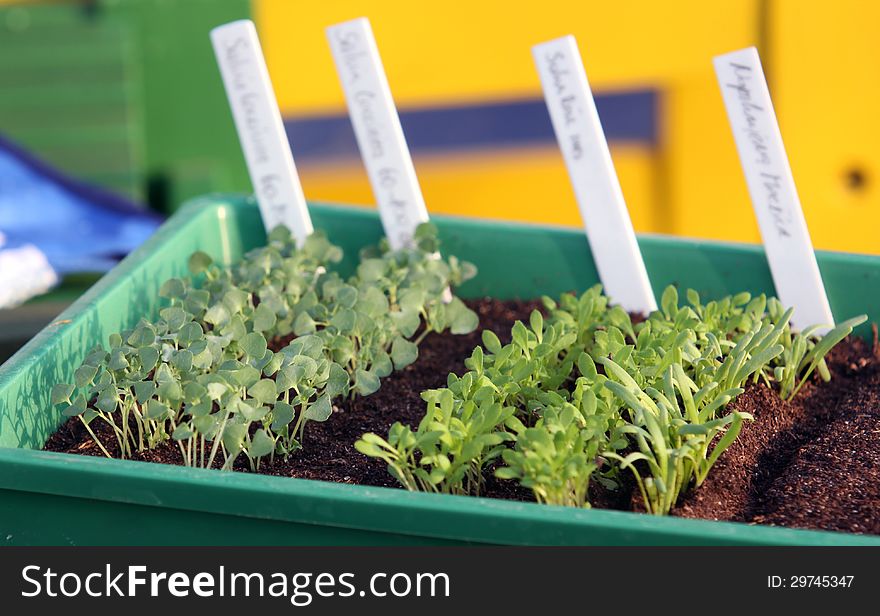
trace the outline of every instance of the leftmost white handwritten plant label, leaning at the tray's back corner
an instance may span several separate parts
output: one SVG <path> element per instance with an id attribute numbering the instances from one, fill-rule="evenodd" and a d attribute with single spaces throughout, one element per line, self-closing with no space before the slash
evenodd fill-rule
<path id="1" fill-rule="evenodd" d="M 312 220 L 257 29 L 250 20 L 234 21 L 211 30 L 211 42 L 263 225 L 266 231 L 287 226 L 302 245 Z"/>

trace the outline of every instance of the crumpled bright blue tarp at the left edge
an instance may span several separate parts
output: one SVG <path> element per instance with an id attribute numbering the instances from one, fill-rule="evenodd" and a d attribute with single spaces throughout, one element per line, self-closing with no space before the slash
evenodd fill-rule
<path id="1" fill-rule="evenodd" d="M 60 274 L 104 272 L 147 239 L 161 218 L 66 177 L 0 136 L 0 232 L 34 244 Z"/>

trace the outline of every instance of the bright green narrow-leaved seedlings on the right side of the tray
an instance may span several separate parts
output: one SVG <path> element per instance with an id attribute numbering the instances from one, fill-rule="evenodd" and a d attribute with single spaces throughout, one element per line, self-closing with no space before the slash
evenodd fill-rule
<path id="1" fill-rule="evenodd" d="M 494 468 L 539 502 L 577 507 L 589 506 L 591 480 L 613 489 L 631 473 L 645 509 L 665 514 L 751 419 L 729 408 L 746 384 L 789 398 L 813 372 L 829 379 L 825 355 L 865 320 L 794 332 L 773 298 L 703 304 L 688 291 L 680 306 L 674 287 L 635 324 L 598 286 L 544 307 L 508 344 L 485 331 L 468 372 L 423 393 L 416 429 L 394 424 L 357 449 L 410 490 L 479 494 Z"/>

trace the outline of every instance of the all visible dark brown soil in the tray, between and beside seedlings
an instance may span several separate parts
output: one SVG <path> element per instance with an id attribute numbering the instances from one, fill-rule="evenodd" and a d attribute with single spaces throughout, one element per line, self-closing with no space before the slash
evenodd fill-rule
<path id="1" fill-rule="evenodd" d="M 365 432 L 387 434 L 395 421 L 417 425 L 425 410 L 421 392 L 444 387 L 450 372 L 465 370 L 464 360 L 480 343 L 482 329 L 508 342 L 514 321 L 527 319 L 539 302 L 484 299 L 468 304 L 480 316 L 478 331 L 427 336 L 416 363 L 384 379 L 372 396 L 339 403 L 328 421 L 310 423 L 303 450 L 287 462 L 264 464 L 259 472 L 399 487 L 383 462 L 358 453 L 353 443 Z M 870 345 L 850 339 L 838 345 L 828 363 L 831 382 L 814 379 L 791 402 L 764 385 L 748 387 L 734 404 L 754 421 L 746 423 L 706 482 L 685 495 L 673 514 L 880 534 L 880 362 Z M 109 428 L 98 422 L 93 426 L 115 455 Z M 45 449 L 103 455 L 77 418 L 61 426 Z M 180 453 L 166 444 L 136 459 L 179 464 Z M 236 468 L 247 469 L 243 456 Z M 630 478 L 623 479 L 616 491 L 591 482 L 593 506 L 639 509 Z M 528 490 L 498 481 L 491 472 L 485 495 L 532 500 Z"/>

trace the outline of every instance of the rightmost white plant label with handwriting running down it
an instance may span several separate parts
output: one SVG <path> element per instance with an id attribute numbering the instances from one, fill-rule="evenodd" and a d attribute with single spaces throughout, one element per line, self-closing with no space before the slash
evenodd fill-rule
<path id="1" fill-rule="evenodd" d="M 794 308 L 799 327 L 833 325 L 758 51 L 749 47 L 714 62 L 779 300 Z"/>

